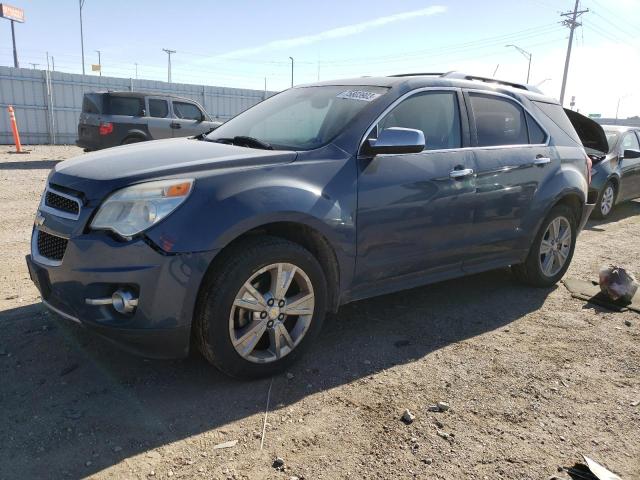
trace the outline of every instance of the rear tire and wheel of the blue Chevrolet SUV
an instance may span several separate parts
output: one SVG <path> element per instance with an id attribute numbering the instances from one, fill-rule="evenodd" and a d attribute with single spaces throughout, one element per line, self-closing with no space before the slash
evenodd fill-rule
<path id="1" fill-rule="evenodd" d="M 559 234 L 556 237 L 564 237 L 566 229 L 571 235 L 570 239 L 564 239 L 560 242 L 561 246 L 557 248 L 557 242 L 552 236 L 554 232 L 552 224 L 556 221 L 555 225 L 560 226 Z M 576 246 L 577 224 L 576 212 L 573 209 L 567 205 L 553 207 L 544 222 L 542 222 L 525 262 L 511 266 L 514 276 L 523 283 L 540 288 L 548 288 L 558 283 L 566 273 L 573 258 Z M 543 241 L 545 242 L 544 247 Z M 549 248 L 548 253 L 543 253 L 543 248 L 546 249 L 546 247 L 553 248 Z M 547 262 L 549 260 L 548 255 L 551 255 L 551 268 L 545 270 L 544 266 L 549 265 Z M 565 256 L 563 257 L 563 255 Z M 561 262 L 562 258 L 564 258 L 563 262 Z"/>

